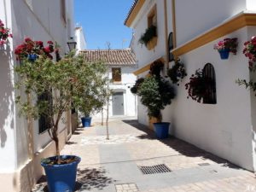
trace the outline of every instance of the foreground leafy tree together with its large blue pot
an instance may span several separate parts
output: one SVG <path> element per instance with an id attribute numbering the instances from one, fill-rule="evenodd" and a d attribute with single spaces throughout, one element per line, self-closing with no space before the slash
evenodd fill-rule
<path id="1" fill-rule="evenodd" d="M 49 137 L 55 142 L 55 156 L 41 161 L 46 173 L 50 192 L 73 191 L 76 180 L 76 170 L 80 158 L 74 155 L 61 155 L 59 148 L 59 125 L 63 114 L 71 110 L 72 102 L 78 97 L 76 89 L 84 86 L 84 65 L 74 56 L 67 55 L 65 59 L 53 62 L 48 54 L 38 55 L 36 61 L 30 61 L 27 55 L 19 55 L 22 65 L 15 67 L 19 79 L 16 89 L 20 96 L 16 102 L 20 107 L 20 114 L 27 119 L 38 119 L 44 115 L 49 119 L 51 127 Z M 24 92 L 27 98 L 24 98 Z M 38 96 L 47 94 L 49 100 L 38 100 Z"/>

